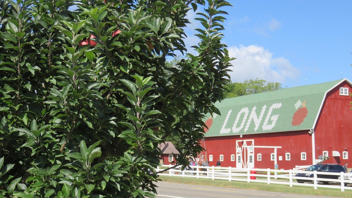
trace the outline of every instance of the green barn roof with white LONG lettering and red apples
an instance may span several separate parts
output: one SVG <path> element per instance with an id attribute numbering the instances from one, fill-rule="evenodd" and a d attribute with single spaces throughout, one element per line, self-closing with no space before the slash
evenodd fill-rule
<path id="1" fill-rule="evenodd" d="M 344 80 L 227 98 L 215 104 L 221 116 L 206 116 L 205 136 L 312 129 L 325 94 Z"/>

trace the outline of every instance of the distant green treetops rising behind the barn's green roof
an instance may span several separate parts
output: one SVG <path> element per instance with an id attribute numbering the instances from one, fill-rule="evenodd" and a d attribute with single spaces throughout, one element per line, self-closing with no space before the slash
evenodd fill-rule
<path id="1" fill-rule="evenodd" d="M 256 80 L 245 80 L 244 82 L 227 83 L 224 87 L 226 88 L 224 91 L 225 98 L 282 89 L 279 82 L 269 82 L 258 78 Z"/>

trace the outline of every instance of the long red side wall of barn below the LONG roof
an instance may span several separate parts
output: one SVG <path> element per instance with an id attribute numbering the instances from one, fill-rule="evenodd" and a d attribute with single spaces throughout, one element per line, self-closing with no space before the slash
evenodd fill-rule
<path id="1" fill-rule="evenodd" d="M 243 135 L 243 138 L 240 138 L 239 135 L 206 137 L 207 159 L 209 159 L 209 155 L 213 155 L 213 161 L 209 162 L 209 166 L 215 166 L 219 156 L 224 155 L 221 166 L 236 167 L 236 161 L 231 161 L 231 154 L 236 155 L 237 140 L 254 140 L 254 146 L 281 146 L 282 148 L 277 149 L 279 169 L 291 169 L 296 165 L 312 164 L 312 135 L 309 135 L 308 131 L 293 131 Z M 306 152 L 306 160 L 301 160 L 301 152 Z M 257 161 L 258 153 L 262 154 L 262 161 Z M 254 167 L 274 169 L 275 163 L 270 160 L 271 153 L 274 153 L 274 148 L 254 148 Z M 285 160 L 285 153 L 291 154 L 290 161 Z M 279 160 L 278 156 L 282 156 L 282 160 Z"/>

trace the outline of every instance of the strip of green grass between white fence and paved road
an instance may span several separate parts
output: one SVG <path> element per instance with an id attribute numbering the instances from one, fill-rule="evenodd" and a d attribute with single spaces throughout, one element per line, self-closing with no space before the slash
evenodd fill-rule
<path id="1" fill-rule="evenodd" d="M 226 180 L 212 180 L 203 178 L 187 178 L 187 177 L 170 177 L 160 176 L 159 179 L 162 181 L 178 183 L 178 184 L 193 184 L 202 186 L 215 186 L 222 188 L 238 188 L 248 190 L 259 190 L 259 191 L 271 191 L 271 192 L 285 192 L 285 193 L 296 193 L 296 194 L 307 194 L 307 195 L 319 195 L 329 197 L 352 197 L 352 190 L 345 190 L 341 192 L 340 189 L 334 188 L 318 188 L 315 190 L 310 186 L 293 186 L 282 185 L 282 184 L 266 184 L 259 182 L 243 182 L 243 181 L 226 181 Z"/>

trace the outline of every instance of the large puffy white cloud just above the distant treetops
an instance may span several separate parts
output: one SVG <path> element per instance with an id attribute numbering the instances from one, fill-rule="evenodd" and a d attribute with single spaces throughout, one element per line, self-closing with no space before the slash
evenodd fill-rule
<path id="1" fill-rule="evenodd" d="M 247 79 L 263 79 L 270 82 L 284 83 L 295 79 L 300 71 L 284 57 L 273 58 L 269 50 L 257 45 L 228 48 L 230 57 L 236 57 L 230 69 L 232 82 L 243 82 Z"/>

